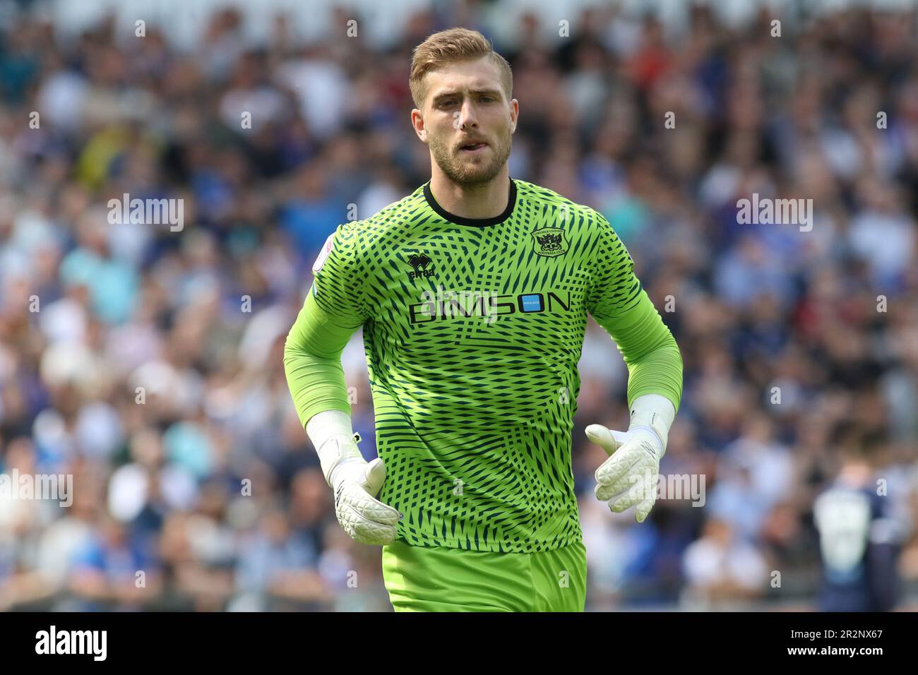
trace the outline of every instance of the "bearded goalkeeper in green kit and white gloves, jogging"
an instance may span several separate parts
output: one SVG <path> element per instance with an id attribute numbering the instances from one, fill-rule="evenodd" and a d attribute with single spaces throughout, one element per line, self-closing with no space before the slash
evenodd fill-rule
<path id="1" fill-rule="evenodd" d="M 383 547 L 397 611 L 583 611 L 571 433 L 588 314 L 628 366 L 627 431 L 596 496 L 654 505 L 682 392 L 677 345 L 592 208 L 509 177 L 509 64 L 453 28 L 414 51 L 411 121 L 431 180 L 334 231 L 287 336 L 285 372 L 341 527 Z M 353 434 L 341 351 L 363 328 L 378 457 Z"/>

